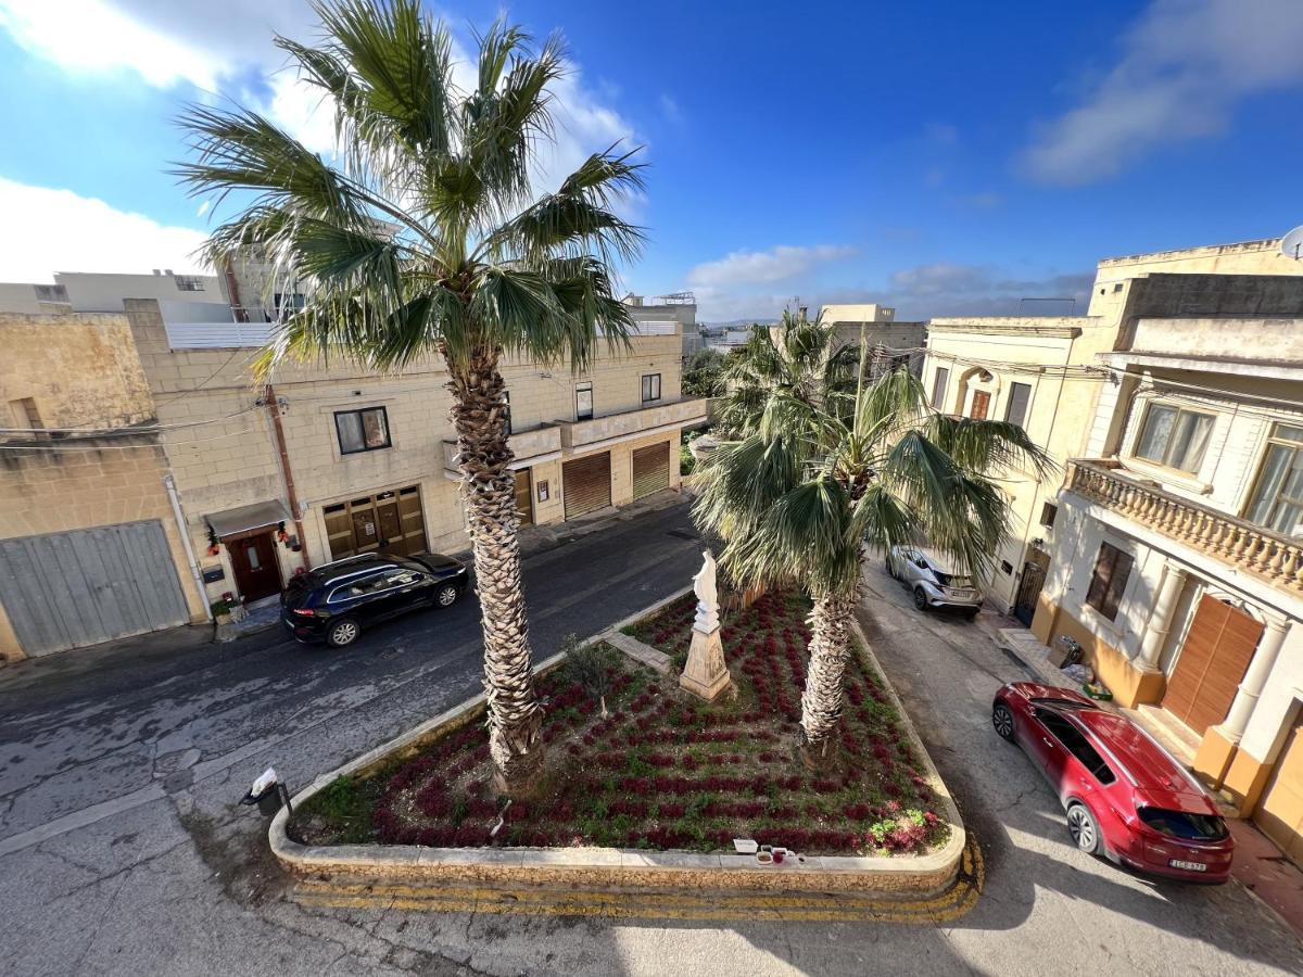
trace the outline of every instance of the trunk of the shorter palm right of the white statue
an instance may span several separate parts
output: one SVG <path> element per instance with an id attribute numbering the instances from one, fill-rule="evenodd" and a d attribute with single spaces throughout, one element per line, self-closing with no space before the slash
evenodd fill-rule
<path id="1" fill-rule="evenodd" d="M 810 611 L 810 660 L 801 693 L 801 758 L 814 767 L 827 757 L 846 700 L 846 662 L 851 657 L 855 598 L 825 595 Z"/>

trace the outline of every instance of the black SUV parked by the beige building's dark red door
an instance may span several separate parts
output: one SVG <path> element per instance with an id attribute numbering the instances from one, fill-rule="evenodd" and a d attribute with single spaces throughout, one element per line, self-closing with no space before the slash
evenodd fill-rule
<path id="1" fill-rule="evenodd" d="M 292 578 L 280 595 L 280 620 L 298 641 L 343 647 L 364 625 L 456 603 L 468 582 L 466 568 L 439 554 L 349 556 Z"/>

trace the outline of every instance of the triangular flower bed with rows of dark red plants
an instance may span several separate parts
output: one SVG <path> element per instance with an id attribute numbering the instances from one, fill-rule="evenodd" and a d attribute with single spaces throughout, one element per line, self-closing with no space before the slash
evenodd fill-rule
<path id="1" fill-rule="evenodd" d="M 366 779 L 340 778 L 298 810 L 306 844 L 431 847 L 603 845 L 731 851 L 734 838 L 809 855 L 928 851 L 949 826 L 881 681 L 848 668 L 842 754 L 826 771 L 795 758 L 805 675 L 808 602 L 770 594 L 728 620 L 724 653 L 736 698 L 704 703 L 606 649 L 606 703 L 566 666 L 538 679 L 546 698 L 549 774 L 538 793 L 495 797 L 486 736 L 453 729 Z M 635 634 L 685 654 L 692 598 Z M 494 827 L 502 819 L 500 828 Z"/>

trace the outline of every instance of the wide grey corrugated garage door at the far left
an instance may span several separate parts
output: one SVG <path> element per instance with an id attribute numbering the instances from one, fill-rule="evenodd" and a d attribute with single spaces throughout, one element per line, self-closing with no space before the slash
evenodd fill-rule
<path id="1" fill-rule="evenodd" d="M 190 620 L 158 520 L 0 541 L 0 602 L 29 655 Z"/>

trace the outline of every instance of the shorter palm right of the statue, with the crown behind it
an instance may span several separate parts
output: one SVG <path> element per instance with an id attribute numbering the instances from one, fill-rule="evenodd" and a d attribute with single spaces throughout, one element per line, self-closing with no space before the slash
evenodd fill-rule
<path id="1" fill-rule="evenodd" d="M 702 529 L 724 541 L 721 563 L 740 585 L 797 584 L 813 598 L 799 743 L 809 765 L 835 743 L 866 547 L 924 535 L 985 576 L 1010 521 L 995 478 L 1019 464 L 1052 468 L 1016 425 L 933 410 L 903 367 L 866 383 L 857 349 L 847 387 L 830 366 L 830 333 L 784 319 L 780 335 L 795 344 L 753 337 L 741 439 L 702 465 L 694 507 Z"/>

